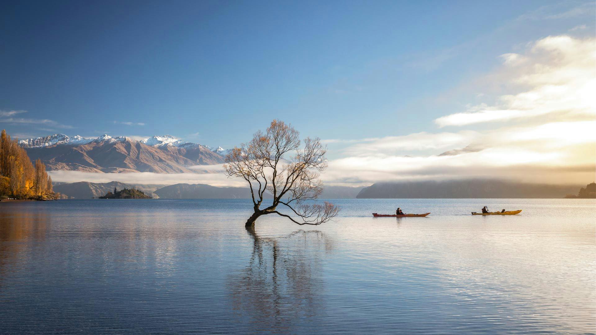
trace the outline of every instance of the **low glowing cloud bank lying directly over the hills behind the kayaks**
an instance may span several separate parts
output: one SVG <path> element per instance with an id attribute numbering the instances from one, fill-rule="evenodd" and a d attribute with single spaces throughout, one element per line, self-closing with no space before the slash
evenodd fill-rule
<path id="1" fill-rule="evenodd" d="M 323 178 L 328 185 L 461 178 L 583 184 L 596 172 L 592 129 L 596 129 L 596 121 L 496 129 L 476 139 L 476 150 L 446 156 L 376 153 L 331 160 Z"/>

